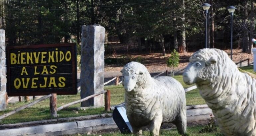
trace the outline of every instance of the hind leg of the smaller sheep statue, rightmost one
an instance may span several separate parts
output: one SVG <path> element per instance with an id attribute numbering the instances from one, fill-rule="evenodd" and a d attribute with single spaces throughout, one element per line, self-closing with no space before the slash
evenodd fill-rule
<path id="1" fill-rule="evenodd" d="M 184 135 L 187 132 L 187 116 L 184 112 L 180 112 L 180 115 L 177 116 L 175 125 L 179 134 Z"/>

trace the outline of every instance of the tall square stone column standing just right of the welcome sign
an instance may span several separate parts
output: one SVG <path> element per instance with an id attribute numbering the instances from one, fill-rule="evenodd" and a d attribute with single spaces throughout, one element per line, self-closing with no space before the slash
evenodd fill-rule
<path id="1" fill-rule="evenodd" d="M 81 99 L 104 90 L 104 37 L 104 27 L 82 26 Z M 81 102 L 84 106 L 104 106 L 104 94 Z"/>

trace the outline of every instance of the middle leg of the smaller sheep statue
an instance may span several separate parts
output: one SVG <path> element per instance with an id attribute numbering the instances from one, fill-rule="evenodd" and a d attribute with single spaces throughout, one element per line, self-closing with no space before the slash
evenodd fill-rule
<path id="1" fill-rule="evenodd" d="M 163 121 L 163 116 L 156 114 L 155 118 L 149 124 L 151 136 L 159 136 L 159 131 L 161 128 L 162 121 Z"/>

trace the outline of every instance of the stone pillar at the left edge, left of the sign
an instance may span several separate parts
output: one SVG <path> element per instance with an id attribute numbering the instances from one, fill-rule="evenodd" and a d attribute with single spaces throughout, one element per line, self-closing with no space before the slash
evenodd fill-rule
<path id="1" fill-rule="evenodd" d="M 6 109 L 5 31 L 0 30 L 0 111 Z"/>

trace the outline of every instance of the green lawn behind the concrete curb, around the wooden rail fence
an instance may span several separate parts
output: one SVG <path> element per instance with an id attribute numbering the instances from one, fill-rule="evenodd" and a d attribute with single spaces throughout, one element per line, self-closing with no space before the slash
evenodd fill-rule
<path id="1" fill-rule="evenodd" d="M 242 69 L 255 74 L 255 72 L 253 72 L 252 66 L 242 67 Z M 181 82 L 184 88 L 188 88 L 192 86 L 192 85 L 188 86 L 183 82 L 182 75 L 175 76 L 175 78 Z M 124 88 L 122 87 L 122 85 L 105 86 L 105 90 L 111 90 L 111 103 L 110 103 L 111 105 L 116 105 L 124 102 Z M 80 99 L 80 93 L 78 93 L 77 95 L 57 96 L 57 107 L 60 107 L 64 104 L 67 104 L 79 99 Z M 187 99 L 187 105 L 205 104 L 204 100 L 201 98 L 201 96 L 198 93 L 198 89 L 188 92 L 186 94 L 186 99 Z M 8 113 L 27 103 L 26 102 L 10 103 L 8 104 L 7 109 L 5 111 L 0 111 L 0 115 Z M 104 111 L 104 107 L 87 109 L 87 110 L 78 110 L 78 113 L 75 113 L 74 107 L 79 107 L 79 106 L 80 106 L 80 103 L 58 111 L 57 112 L 59 114 L 58 118 L 106 113 Z M 0 124 L 11 124 L 11 123 L 20 123 L 20 122 L 27 122 L 27 121 L 45 120 L 45 119 L 53 119 L 53 117 L 50 116 L 49 99 L 42 101 L 40 103 L 37 103 L 34 106 L 23 109 L 22 111 L 19 111 L 13 115 L 10 115 L 9 117 L 6 117 L 0 120 Z"/>

